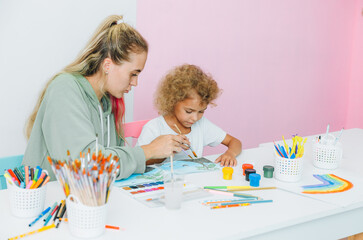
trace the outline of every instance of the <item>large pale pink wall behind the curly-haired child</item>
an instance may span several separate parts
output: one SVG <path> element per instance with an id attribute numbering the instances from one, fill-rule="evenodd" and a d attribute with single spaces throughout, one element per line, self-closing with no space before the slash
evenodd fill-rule
<path id="1" fill-rule="evenodd" d="M 356 1 L 139 0 L 150 44 L 135 88 L 134 120 L 157 116 L 166 71 L 201 66 L 224 90 L 206 117 L 243 148 L 345 125 Z M 208 153 L 218 152 L 219 149 Z"/>

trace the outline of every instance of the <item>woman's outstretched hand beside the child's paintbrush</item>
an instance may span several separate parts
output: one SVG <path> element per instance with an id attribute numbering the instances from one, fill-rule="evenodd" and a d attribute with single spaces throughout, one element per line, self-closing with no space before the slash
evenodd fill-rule
<path id="1" fill-rule="evenodd" d="M 154 139 L 150 144 L 143 145 L 146 160 L 155 158 L 166 158 L 180 152 L 181 149 L 188 149 L 190 142 L 184 135 L 161 135 Z"/>

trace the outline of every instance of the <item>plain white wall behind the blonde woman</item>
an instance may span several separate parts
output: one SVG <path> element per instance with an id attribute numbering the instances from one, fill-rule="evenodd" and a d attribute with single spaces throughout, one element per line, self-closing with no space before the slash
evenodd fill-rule
<path id="1" fill-rule="evenodd" d="M 135 26 L 136 0 L 0 0 L 0 157 L 24 152 L 24 124 L 44 84 L 111 14 Z"/>

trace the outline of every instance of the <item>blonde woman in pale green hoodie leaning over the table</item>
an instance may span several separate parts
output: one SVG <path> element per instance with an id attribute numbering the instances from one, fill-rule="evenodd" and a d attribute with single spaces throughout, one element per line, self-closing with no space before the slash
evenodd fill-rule
<path id="1" fill-rule="evenodd" d="M 189 141 L 161 136 L 142 147 L 125 147 L 123 96 L 137 86 L 148 53 L 146 40 L 122 16 L 109 16 L 77 59 L 53 77 L 42 91 L 26 125 L 29 139 L 24 165 L 47 169 L 47 156 L 76 158 L 88 149 L 120 158 L 117 179 L 143 173 L 147 160 L 170 156 Z M 98 146 L 96 136 L 98 135 Z"/>

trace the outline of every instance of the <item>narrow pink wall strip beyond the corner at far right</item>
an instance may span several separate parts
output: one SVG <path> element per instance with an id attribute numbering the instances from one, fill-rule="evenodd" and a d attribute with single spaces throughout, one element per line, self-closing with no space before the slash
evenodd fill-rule
<path id="1" fill-rule="evenodd" d="M 357 2 L 347 127 L 363 128 L 363 0 Z"/>

